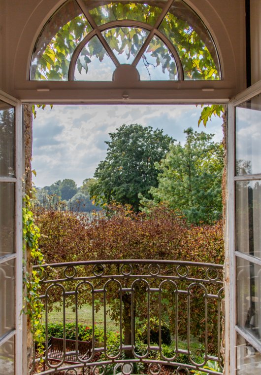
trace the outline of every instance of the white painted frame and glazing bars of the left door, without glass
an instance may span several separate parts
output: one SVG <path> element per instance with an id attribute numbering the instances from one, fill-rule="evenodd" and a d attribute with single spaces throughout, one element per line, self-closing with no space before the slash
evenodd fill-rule
<path id="1" fill-rule="evenodd" d="M 15 329 L 6 335 L 0 344 L 8 339 L 15 338 L 15 375 L 23 374 L 23 224 L 22 224 L 22 197 L 23 197 L 23 130 L 22 104 L 19 100 L 0 90 L 0 100 L 13 106 L 15 109 L 15 177 L 0 177 L 0 182 L 15 184 L 15 253 L 2 257 L 0 263 L 15 260 Z"/>

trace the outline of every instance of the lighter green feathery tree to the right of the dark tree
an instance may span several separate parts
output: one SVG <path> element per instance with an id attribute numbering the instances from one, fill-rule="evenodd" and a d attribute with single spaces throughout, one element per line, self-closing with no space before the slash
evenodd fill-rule
<path id="1" fill-rule="evenodd" d="M 165 202 L 182 211 L 191 223 L 213 223 L 222 215 L 223 146 L 213 142 L 214 134 L 192 128 L 184 132 L 185 145 L 173 144 L 161 163 L 156 163 L 159 186 L 149 192 L 154 204 Z M 141 202 L 149 203 L 144 198 Z"/>

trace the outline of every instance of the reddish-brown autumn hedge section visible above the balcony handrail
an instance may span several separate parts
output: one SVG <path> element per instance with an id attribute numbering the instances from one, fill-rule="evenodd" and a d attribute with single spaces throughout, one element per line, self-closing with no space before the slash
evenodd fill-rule
<path id="1" fill-rule="evenodd" d="M 112 205 L 107 215 L 37 207 L 39 247 L 46 263 L 108 259 L 164 259 L 224 262 L 223 226 L 188 225 L 163 205 L 149 215 L 128 206 Z"/>

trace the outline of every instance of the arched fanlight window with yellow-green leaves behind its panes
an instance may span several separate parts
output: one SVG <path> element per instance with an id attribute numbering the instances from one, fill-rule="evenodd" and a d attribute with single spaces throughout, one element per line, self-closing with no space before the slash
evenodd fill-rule
<path id="1" fill-rule="evenodd" d="M 68 0 L 44 26 L 31 80 L 221 79 L 210 33 L 183 0 Z M 132 72 L 132 73 L 131 73 Z"/>

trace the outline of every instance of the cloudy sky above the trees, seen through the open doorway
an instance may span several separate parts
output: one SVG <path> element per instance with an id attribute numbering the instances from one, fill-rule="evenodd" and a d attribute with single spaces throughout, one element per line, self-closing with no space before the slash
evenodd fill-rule
<path id="1" fill-rule="evenodd" d="M 52 110 L 48 106 L 38 109 L 33 120 L 34 184 L 44 187 L 68 178 L 82 185 L 106 157 L 108 133 L 122 124 L 160 128 L 181 142 L 184 129 L 192 126 L 214 133 L 214 140 L 221 141 L 222 120 L 215 117 L 206 129 L 202 124 L 198 128 L 200 112 L 195 105 L 55 105 Z"/>

